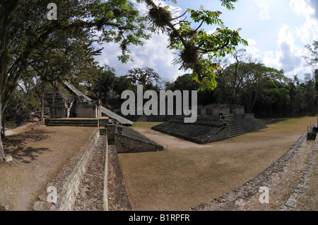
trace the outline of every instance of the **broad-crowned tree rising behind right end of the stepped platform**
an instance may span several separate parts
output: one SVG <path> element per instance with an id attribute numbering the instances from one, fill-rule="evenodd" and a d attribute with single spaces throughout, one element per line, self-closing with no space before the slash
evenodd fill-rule
<path id="1" fill-rule="evenodd" d="M 245 104 L 248 113 L 252 113 L 255 103 L 266 87 L 276 80 L 285 80 L 283 71 L 264 66 L 252 59 L 245 49 L 239 49 L 232 54 L 234 63 L 218 73 L 218 85 L 227 104 Z"/>

